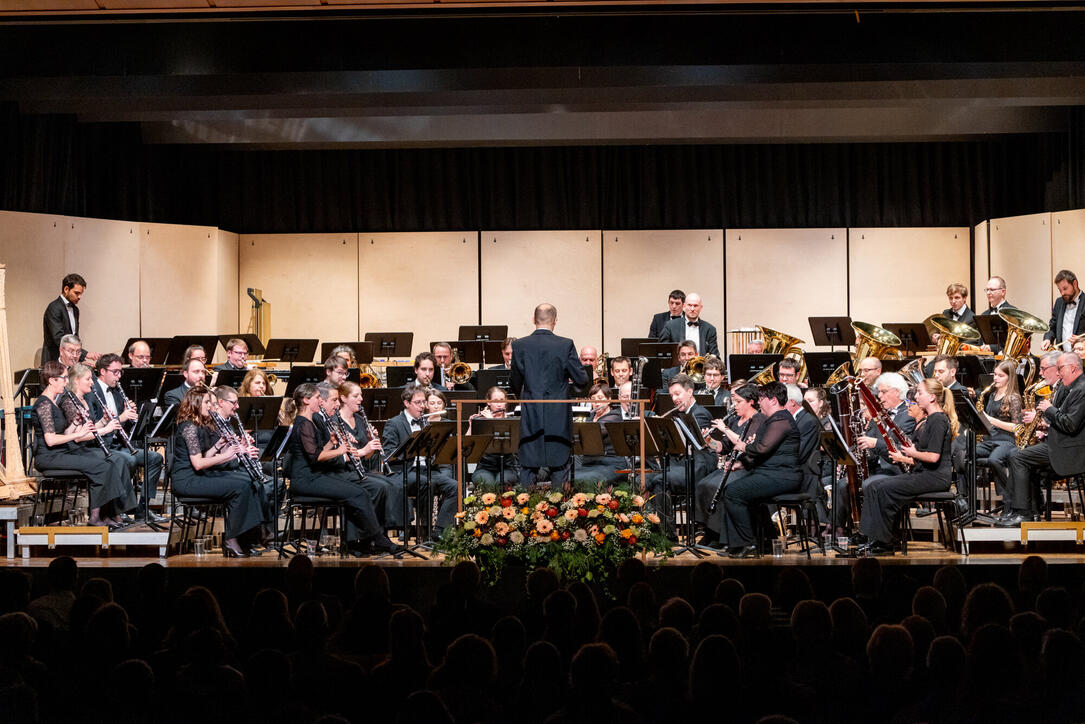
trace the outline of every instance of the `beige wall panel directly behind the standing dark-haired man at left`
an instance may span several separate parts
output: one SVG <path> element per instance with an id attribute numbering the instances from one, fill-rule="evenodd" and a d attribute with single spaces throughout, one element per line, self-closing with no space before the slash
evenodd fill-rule
<path id="1" fill-rule="evenodd" d="M 66 217 L 67 269 L 87 280 L 79 302 L 84 346 L 120 354 L 139 336 L 139 225 L 132 221 Z"/>

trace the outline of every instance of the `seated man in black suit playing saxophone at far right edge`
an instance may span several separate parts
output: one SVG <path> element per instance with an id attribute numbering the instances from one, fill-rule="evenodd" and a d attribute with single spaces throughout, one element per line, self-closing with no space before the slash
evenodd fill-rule
<path id="1" fill-rule="evenodd" d="M 1013 510 L 996 522 L 1003 528 L 1020 525 L 1031 520 L 1036 510 L 1032 475 L 1047 473 L 1068 478 L 1085 472 L 1085 379 L 1082 359 L 1072 352 L 1059 355 L 1059 381 L 1062 383 L 1051 398 L 1025 410 L 1024 421 L 1044 416 L 1047 439 L 1036 445 L 1010 454 L 1010 484 L 1013 486 Z"/>

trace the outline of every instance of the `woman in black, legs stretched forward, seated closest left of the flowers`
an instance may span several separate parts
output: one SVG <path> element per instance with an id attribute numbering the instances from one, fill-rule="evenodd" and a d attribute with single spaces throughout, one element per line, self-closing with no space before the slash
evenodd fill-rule
<path id="1" fill-rule="evenodd" d="M 388 552 L 394 546 L 378 520 L 370 493 L 358 484 L 356 475 L 347 474 L 337 465 L 349 454 L 348 446 L 336 444 L 329 429 L 314 421 L 322 402 L 327 398 L 321 398 L 315 384 L 307 382 L 294 390 L 297 416 L 290 436 L 286 466 L 290 490 L 294 495 L 328 498 L 346 507 L 344 537 L 352 555 Z M 327 404 L 323 409 L 327 411 Z"/>

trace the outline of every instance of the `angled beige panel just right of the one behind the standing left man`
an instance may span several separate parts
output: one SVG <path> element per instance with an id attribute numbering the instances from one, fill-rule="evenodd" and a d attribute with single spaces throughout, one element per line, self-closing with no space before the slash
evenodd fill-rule
<path id="1" fill-rule="evenodd" d="M 218 327 L 220 280 L 214 262 L 218 257 L 217 232 L 216 228 L 205 226 L 139 226 L 140 318 L 144 336 L 224 331 Z M 225 359 L 226 355 L 216 347 L 214 358 Z"/>

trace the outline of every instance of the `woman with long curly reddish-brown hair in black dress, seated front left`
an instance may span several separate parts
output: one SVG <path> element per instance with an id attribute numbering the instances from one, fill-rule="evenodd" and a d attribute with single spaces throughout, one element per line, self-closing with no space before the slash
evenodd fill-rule
<path id="1" fill-rule="evenodd" d="M 184 393 L 174 439 L 174 492 L 184 497 L 221 498 L 226 504 L 222 555 L 246 558 L 239 538 L 264 522 L 264 492 L 237 459 L 247 455 L 242 445 L 229 445 L 210 421 L 212 393 L 196 385 Z"/>

